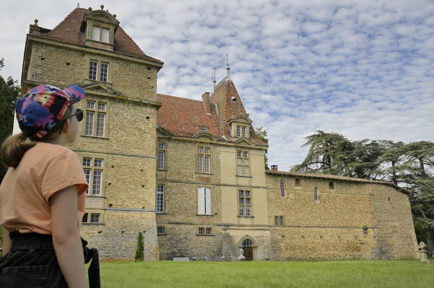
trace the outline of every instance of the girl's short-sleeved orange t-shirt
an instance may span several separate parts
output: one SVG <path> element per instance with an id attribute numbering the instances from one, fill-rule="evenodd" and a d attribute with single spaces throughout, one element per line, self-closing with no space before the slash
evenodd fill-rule
<path id="1" fill-rule="evenodd" d="M 0 185 L 0 224 L 9 231 L 52 234 L 50 197 L 78 185 L 77 225 L 85 210 L 88 184 L 79 157 L 70 149 L 38 142 L 9 168 Z"/>

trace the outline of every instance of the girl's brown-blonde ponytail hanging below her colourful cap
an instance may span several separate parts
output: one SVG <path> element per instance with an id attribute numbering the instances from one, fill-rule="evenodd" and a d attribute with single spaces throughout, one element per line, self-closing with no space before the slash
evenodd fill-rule
<path id="1" fill-rule="evenodd" d="M 3 163 L 7 167 L 16 168 L 20 164 L 24 153 L 35 145 L 36 141 L 28 138 L 23 132 L 9 136 L 1 147 Z"/>

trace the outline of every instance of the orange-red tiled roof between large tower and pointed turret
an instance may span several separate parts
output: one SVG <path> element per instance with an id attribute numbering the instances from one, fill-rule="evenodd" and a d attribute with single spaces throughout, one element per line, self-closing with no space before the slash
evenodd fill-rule
<path id="1" fill-rule="evenodd" d="M 157 101 L 163 106 L 157 110 L 157 125 L 174 136 L 193 137 L 200 128 L 220 137 L 215 105 L 211 105 L 211 115 L 207 114 L 202 101 L 157 94 Z"/>

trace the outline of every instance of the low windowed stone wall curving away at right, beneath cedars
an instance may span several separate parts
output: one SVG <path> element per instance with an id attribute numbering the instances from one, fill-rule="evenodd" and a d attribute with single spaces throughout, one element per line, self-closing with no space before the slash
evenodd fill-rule
<path id="1" fill-rule="evenodd" d="M 300 178 L 301 187 L 296 187 L 295 179 L 266 175 L 275 259 L 418 256 L 407 195 L 384 184 L 319 178 Z M 281 196 L 280 180 L 285 181 L 285 197 Z M 315 187 L 319 201 L 314 200 Z M 283 225 L 280 219 L 275 225 L 275 216 L 284 217 Z"/>

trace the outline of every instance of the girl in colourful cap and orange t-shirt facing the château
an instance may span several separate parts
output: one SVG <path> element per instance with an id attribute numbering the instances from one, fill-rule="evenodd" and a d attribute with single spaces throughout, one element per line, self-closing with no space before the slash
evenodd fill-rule
<path id="1" fill-rule="evenodd" d="M 74 103 L 84 96 L 79 86 L 41 85 L 17 101 L 22 132 L 1 149 L 10 167 L 0 185 L 2 288 L 87 287 L 79 230 L 88 184 L 65 147 L 77 140 L 83 111 Z"/>

